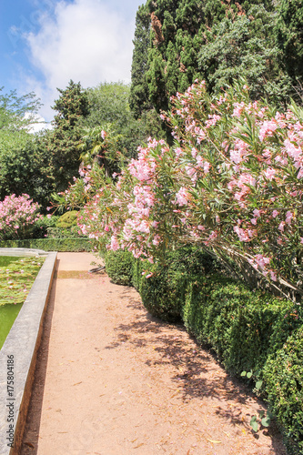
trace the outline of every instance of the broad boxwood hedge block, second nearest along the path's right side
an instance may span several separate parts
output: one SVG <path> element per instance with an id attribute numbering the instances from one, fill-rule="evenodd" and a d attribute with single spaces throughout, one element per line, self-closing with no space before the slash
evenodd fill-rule
<path id="1" fill-rule="evenodd" d="M 262 377 L 268 355 L 302 324 L 294 303 L 222 275 L 205 277 L 187 288 L 183 320 L 230 372 L 253 370 L 255 379 Z"/>

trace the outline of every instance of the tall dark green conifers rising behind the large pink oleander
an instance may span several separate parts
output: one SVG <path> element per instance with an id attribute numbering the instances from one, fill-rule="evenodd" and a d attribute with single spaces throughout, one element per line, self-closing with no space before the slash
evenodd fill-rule
<path id="1" fill-rule="evenodd" d="M 197 77 L 216 93 L 239 75 L 255 99 L 285 105 L 302 83 L 302 15 L 301 0 L 147 0 L 136 15 L 132 109 L 167 110 Z"/>

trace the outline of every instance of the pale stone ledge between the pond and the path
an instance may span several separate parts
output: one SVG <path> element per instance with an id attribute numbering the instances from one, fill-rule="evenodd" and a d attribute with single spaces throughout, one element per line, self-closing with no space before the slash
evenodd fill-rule
<path id="1" fill-rule="evenodd" d="M 34 255 L 36 252 L 34 253 Z M 16 255 L 15 255 L 16 256 Z M 25 430 L 26 414 L 35 377 L 37 350 L 43 331 L 45 308 L 56 266 L 56 252 L 47 254 L 35 282 L 25 299 L 5 344 L 0 350 L 0 455 L 17 455 L 20 452 Z M 14 357 L 14 364 L 7 356 Z M 8 367 L 14 365 L 14 391 L 7 389 Z M 12 417 L 14 421 L 7 420 Z M 10 442 L 9 425 L 14 430 L 14 448 Z"/>

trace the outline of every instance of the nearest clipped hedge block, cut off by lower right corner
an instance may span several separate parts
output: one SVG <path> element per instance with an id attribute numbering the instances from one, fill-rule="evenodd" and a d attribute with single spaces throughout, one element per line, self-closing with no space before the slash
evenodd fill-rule
<path id="1" fill-rule="evenodd" d="M 303 453 L 303 326 L 273 353 L 264 367 L 268 403 L 284 427 L 289 455 Z"/>

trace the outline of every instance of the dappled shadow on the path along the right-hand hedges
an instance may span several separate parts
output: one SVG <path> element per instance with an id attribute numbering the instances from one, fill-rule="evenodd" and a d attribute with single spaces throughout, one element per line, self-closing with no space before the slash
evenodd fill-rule
<path id="1" fill-rule="evenodd" d="M 151 316 L 141 300 L 130 299 L 127 291 L 125 296 L 120 298 L 128 300 L 126 307 L 134 309 L 134 317 L 129 323 L 121 323 L 116 327 L 116 339 L 107 345 L 106 349 L 116 349 L 122 343 L 130 343 L 136 349 L 150 348 L 152 345 L 158 358 L 146 359 L 146 365 L 150 369 L 173 367 L 174 372 L 170 379 L 181 391 L 182 395 L 178 394 L 178 397 L 181 397 L 183 402 L 205 397 L 212 399 L 217 405 L 217 415 L 232 425 L 241 425 L 241 428 L 244 426 L 258 440 L 258 433 L 247 423 L 252 416 L 247 413 L 244 419 L 243 411 L 248 402 L 254 402 L 257 414 L 257 410 L 265 409 L 265 403 L 241 380 L 229 376 L 210 350 L 198 345 L 183 325 L 169 324 Z M 286 450 L 281 450 L 281 434 L 275 422 L 271 422 L 270 427 L 263 431 L 271 438 L 273 453 L 286 455 Z"/>

